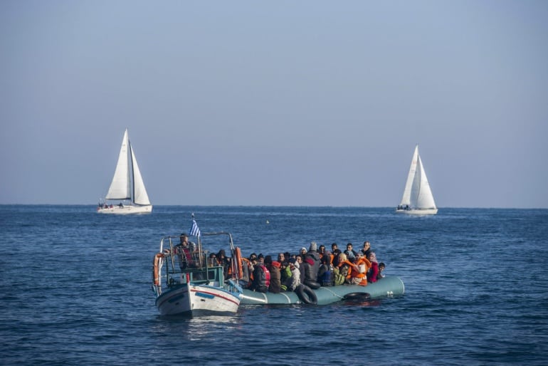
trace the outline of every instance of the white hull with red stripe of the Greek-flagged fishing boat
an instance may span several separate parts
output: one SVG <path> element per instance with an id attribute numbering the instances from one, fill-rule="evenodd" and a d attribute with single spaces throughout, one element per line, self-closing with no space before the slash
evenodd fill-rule
<path id="1" fill-rule="evenodd" d="M 191 283 L 165 291 L 156 299 L 156 305 L 160 315 L 233 315 L 238 312 L 240 300 L 223 288 Z"/>

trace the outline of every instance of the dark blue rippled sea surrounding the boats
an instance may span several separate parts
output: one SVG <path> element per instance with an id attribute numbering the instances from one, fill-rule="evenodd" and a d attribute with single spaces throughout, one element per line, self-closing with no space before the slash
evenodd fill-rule
<path id="1" fill-rule="evenodd" d="M 244 256 L 368 240 L 405 293 L 162 317 L 152 258 L 193 214 Z M 548 364 L 547 209 L 0 205 L 0 234 L 2 365 Z"/>

